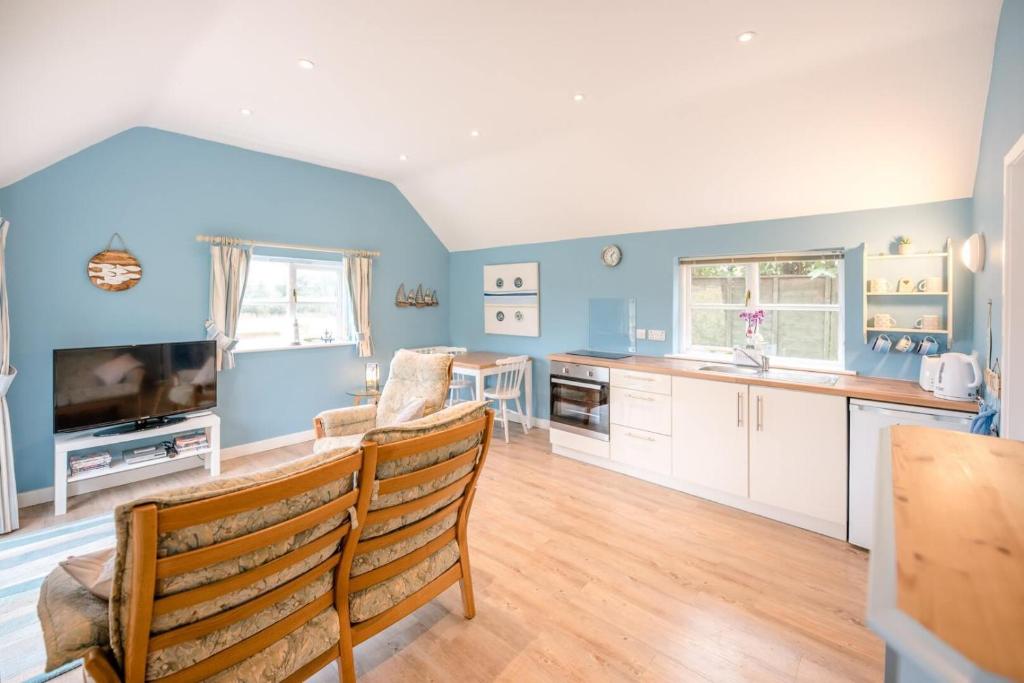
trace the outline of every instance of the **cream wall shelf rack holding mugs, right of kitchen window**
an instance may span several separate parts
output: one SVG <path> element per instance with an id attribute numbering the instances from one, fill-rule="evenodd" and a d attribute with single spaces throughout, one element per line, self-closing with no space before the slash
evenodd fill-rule
<path id="1" fill-rule="evenodd" d="M 863 261 L 863 325 L 864 343 L 872 334 L 937 335 L 946 338 L 945 345 L 952 345 L 953 338 L 953 245 L 947 239 L 942 251 L 914 254 L 868 254 L 864 245 Z M 869 292 L 871 280 L 888 280 L 894 285 L 901 280 L 920 283 L 929 278 L 941 278 L 941 292 Z M 896 318 L 896 326 L 880 328 L 873 324 L 878 314 L 889 314 Z M 945 321 L 939 330 L 923 330 L 906 327 L 922 315 L 938 315 Z M 902 323 L 903 325 L 899 325 Z"/>

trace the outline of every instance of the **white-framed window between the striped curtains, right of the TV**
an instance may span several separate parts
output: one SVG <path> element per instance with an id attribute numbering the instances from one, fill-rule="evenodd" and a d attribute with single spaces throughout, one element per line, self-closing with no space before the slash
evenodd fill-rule
<path id="1" fill-rule="evenodd" d="M 239 350 L 353 343 L 344 261 L 253 256 Z"/>

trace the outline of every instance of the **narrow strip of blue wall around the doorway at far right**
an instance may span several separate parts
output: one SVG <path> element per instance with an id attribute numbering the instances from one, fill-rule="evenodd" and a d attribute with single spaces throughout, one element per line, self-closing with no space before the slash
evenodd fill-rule
<path id="1" fill-rule="evenodd" d="M 975 346 L 985 356 L 985 317 L 992 300 L 992 355 L 1002 334 L 1002 160 L 1024 135 L 1024 0 L 1006 0 L 999 16 L 974 183 L 974 226 L 984 233 L 988 257 L 975 275 Z M 1018 266 L 1019 267 L 1019 266 Z"/>

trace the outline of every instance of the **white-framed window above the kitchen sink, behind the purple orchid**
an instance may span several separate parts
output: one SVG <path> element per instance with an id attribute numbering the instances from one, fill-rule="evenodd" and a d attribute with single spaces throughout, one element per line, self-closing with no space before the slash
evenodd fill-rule
<path id="1" fill-rule="evenodd" d="M 763 309 L 765 351 L 794 365 L 843 367 L 843 252 L 680 259 L 680 353 L 746 343 L 744 310 Z"/>

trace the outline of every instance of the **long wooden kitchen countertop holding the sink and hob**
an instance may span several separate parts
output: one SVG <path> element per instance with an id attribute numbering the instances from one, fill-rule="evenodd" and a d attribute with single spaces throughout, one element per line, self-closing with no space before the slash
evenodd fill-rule
<path id="1" fill-rule="evenodd" d="M 694 377 L 697 379 L 715 380 L 718 382 L 733 382 L 736 384 L 754 384 L 758 386 L 778 387 L 781 389 L 799 389 L 815 393 L 827 393 L 850 398 L 881 400 L 890 403 L 918 405 L 921 408 L 938 408 L 947 411 L 963 411 L 977 413 L 978 405 L 969 400 L 947 400 L 937 398 L 930 391 L 922 389 L 916 382 L 906 380 L 890 380 L 880 377 L 860 377 L 856 375 L 839 375 L 839 382 L 833 386 L 821 384 L 801 384 L 782 380 L 766 380 L 748 375 L 724 375 L 698 370 L 701 366 L 716 365 L 710 360 L 683 360 L 664 356 L 633 355 L 618 360 L 595 358 L 585 355 L 569 355 L 568 353 L 552 353 L 549 360 L 556 362 L 583 362 L 601 368 L 617 368 L 645 373 L 658 373 L 676 377 Z M 721 364 L 719 364 L 721 365 Z"/>

